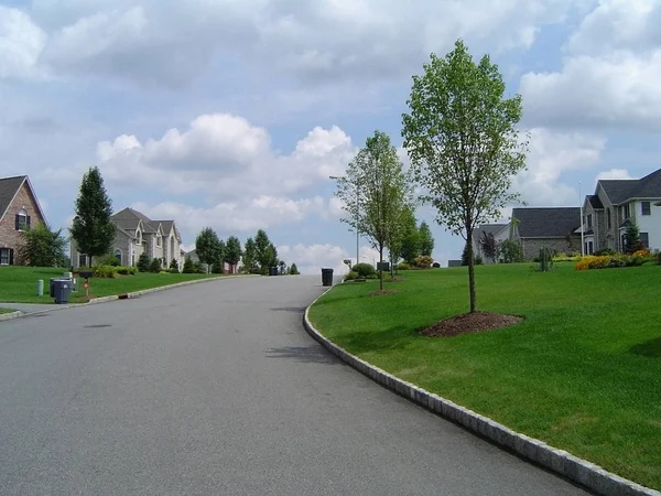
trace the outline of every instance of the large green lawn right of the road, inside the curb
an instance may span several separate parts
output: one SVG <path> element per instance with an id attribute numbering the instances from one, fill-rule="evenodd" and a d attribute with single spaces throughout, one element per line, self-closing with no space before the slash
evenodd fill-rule
<path id="1" fill-rule="evenodd" d="M 390 295 L 337 285 L 311 321 L 391 374 L 661 489 L 661 267 L 476 267 L 478 310 L 525 321 L 451 338 L 415 330 L 467 311 L 466 269 L 402 276 Z"/>

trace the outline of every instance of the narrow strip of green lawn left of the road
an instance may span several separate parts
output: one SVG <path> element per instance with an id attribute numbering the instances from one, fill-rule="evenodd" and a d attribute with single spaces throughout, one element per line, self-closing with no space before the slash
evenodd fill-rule
<path id="1" fill-rule="evenodd" d="M 66 269 L 32 268 L 9 266 L 0 267 L 0 302 L 3 303 L 53 303 L 48 295 L 48 281 L 51 278 L 62 277 Z M 109 296 L 112 294 L 140 291 L 176 282 L 192 281 L 218 277 L 215 274 L 193 273 L 137 273 L 136 276 L 118 276 L 115 279 L 89 279 L 89 294 L 91 296 Z M 36 281 L 43 279 L 44 295 L 36 295 Z M 78 278 L 78 291 L 72 293 L 69 301 L 83 301 L 85 289 L 83 280 Z"/>

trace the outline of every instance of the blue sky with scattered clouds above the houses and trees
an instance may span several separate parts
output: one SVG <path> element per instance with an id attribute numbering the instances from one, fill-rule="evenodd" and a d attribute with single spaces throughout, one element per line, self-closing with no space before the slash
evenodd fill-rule
<path id="1" fill-rule="evenodd" d="M 66 228 L 96 165 L 116 211 L 174 218 L 187 248 L 263 228 L 303 272 L 344 272 L 356 238 L 328 176 L 377 129 L 401 147 L 432 52 L 489 54 L 530 134 L 514 191 L 578 206 L 661 166 L 659 25 L 661 0 L 0 0 L 0 177 L 28 174 Z M 434 258 L 459 258 L 416 214 Z"/>

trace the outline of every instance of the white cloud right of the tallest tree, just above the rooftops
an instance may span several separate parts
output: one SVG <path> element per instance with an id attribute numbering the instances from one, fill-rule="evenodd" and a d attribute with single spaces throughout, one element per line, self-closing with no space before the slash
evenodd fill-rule
<path id="1" fill-rule="evenodd" d="M 528 170 L 514 177 L 512 188 L 530 205 L 574 205 L 578 202 L 578 181 L 570 185 L 561 176 L 594 166 L 605 144 L 605 139 L 594 134 L 532 129 Z"/>

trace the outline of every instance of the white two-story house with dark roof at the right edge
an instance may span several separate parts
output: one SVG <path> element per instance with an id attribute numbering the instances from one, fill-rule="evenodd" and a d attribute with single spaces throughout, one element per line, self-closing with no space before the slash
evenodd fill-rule
<path id="1" fill-rule="evenodd" d="M 639 180 L 599 180 L 583 203 L 586 254 L 624 251 L 630 223 L 640 230 L 642 246 L 661 250 L 661 169 Z"/>

